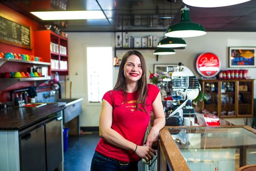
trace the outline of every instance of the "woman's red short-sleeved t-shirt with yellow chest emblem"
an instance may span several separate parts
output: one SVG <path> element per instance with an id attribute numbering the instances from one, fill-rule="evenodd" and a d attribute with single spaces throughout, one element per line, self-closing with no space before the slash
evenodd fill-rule
<path id="1" fill-rule="evenodd" d="M 124 102 L 122 91 L 112 90 L 111 93 L 106 92 L 103 99 L 108 101 L 113 107 L 111 128 L 126 140 L 138 145 L 143 145 L 146 128 L 150 121 L 152 103 L 155 101 L 158 93 L 159 89 L 157 86 L 147 84 L 146 109 L 148 113 L 145 113 L 136 110 L 137 91 L 134 93 L 127 93 L 126 103 Z M 141 160 L 140 157 L 132 151 L 116 147 L 115 145 L 104 141 L 102 138 L 100 138 L 95 151 L 106 157 L 112 157 L 120 161 L 132 162 Z"/>

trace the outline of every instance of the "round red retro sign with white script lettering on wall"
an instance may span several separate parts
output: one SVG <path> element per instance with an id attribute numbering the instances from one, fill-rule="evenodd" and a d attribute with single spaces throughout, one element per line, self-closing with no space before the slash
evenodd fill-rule
<path id="1" fill-rule="evenodd" d="M 219 58 L 213 53 L 203 53 L 197 58 L 197 71 L 206 78 L 216 76 L 221 69 Z"/>

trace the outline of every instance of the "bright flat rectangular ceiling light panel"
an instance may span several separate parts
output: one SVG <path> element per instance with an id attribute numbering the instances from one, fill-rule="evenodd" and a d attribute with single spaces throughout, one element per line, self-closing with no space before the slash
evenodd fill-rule
<path id="1" fill-rule="evenodd" d="M 93 11 L 39 11 L 30 12 L 42 20 L 106 19 L 100 10 Z"/>

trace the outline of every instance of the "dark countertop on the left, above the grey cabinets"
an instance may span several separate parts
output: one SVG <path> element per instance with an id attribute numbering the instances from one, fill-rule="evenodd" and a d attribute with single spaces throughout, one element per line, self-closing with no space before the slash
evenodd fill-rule
<path id="1" fill-rule="evenodd" d="M 58 106 L 57 103 L 48 103 L 39 108 L 13 107 L 11 109 L 0 111 L 0 131 L 22 131 L 65 108 L 65 106 Z"/>

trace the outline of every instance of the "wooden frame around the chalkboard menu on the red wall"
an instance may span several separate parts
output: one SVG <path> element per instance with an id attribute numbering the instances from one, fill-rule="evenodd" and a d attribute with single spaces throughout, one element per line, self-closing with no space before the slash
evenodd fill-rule
<path id="1" fill-rule="evenodd" d="M 10 38 L 10 37 L 5 37 L 6 39 L 4 39 L 3 37 L 1 37 L 0 36 L 0 42 L 2 42 L 2 43 L 4 43 L 4 44 L 8 44 L 8 45 L 13 45 L 13 46 L 17 46 L 17 47 L 21 47 L 21 48 L 25 48 L 25 49 L 30 49 L 30 50 L 32 50 L 32 42 L 31 42 L 31 40 L 32 40 L 32 35 L 31 35 L 31 31 L 32 31 L 32 29 L 31 29 L 31 26 L 27 26 L 27 25 L 25 25 L 25 24 L 22 24 L 22 23 L 19 23 L 19 22 L 17 22 L 15 19 L 12 19 L 12 18 L 10 18 L 10 17 L 8 17 L 8 16 L 5 16 L 4 14 L 2 14 L 2 13 L 0 13 L 0 17 L 2 17 L 2 18 L 4 18 L 4 19 L 6 19 L 6 20 L 8 20 L 9 22 L 11 22 L 11 23 L 13 23 L 14 25 L 17 25 L 17 26 L 19 26 L 19 29 L 28 29 L 29 30 L 29 45 L 24 45 L 24 44 L 22 44 L 22 42 L 18 42 L 18 41 L 14 41 L 15 40 L 15 38 Z M 4 27 L 4 26 L 3 26 Z M 16 28 L 15 28 L 16 29 Z M 0 31 L 1 31 L 1 28 L 0 28 Z M 21 34 L 21 33 L 20 33 Z M 22 36 L 22 35 L 19 35 L 19 36 Z M 7 39 L 7 38 L 9 38 L 9 39 Z M 20 41 L 21 41 L 21 37 L 20 37 Z"/>

